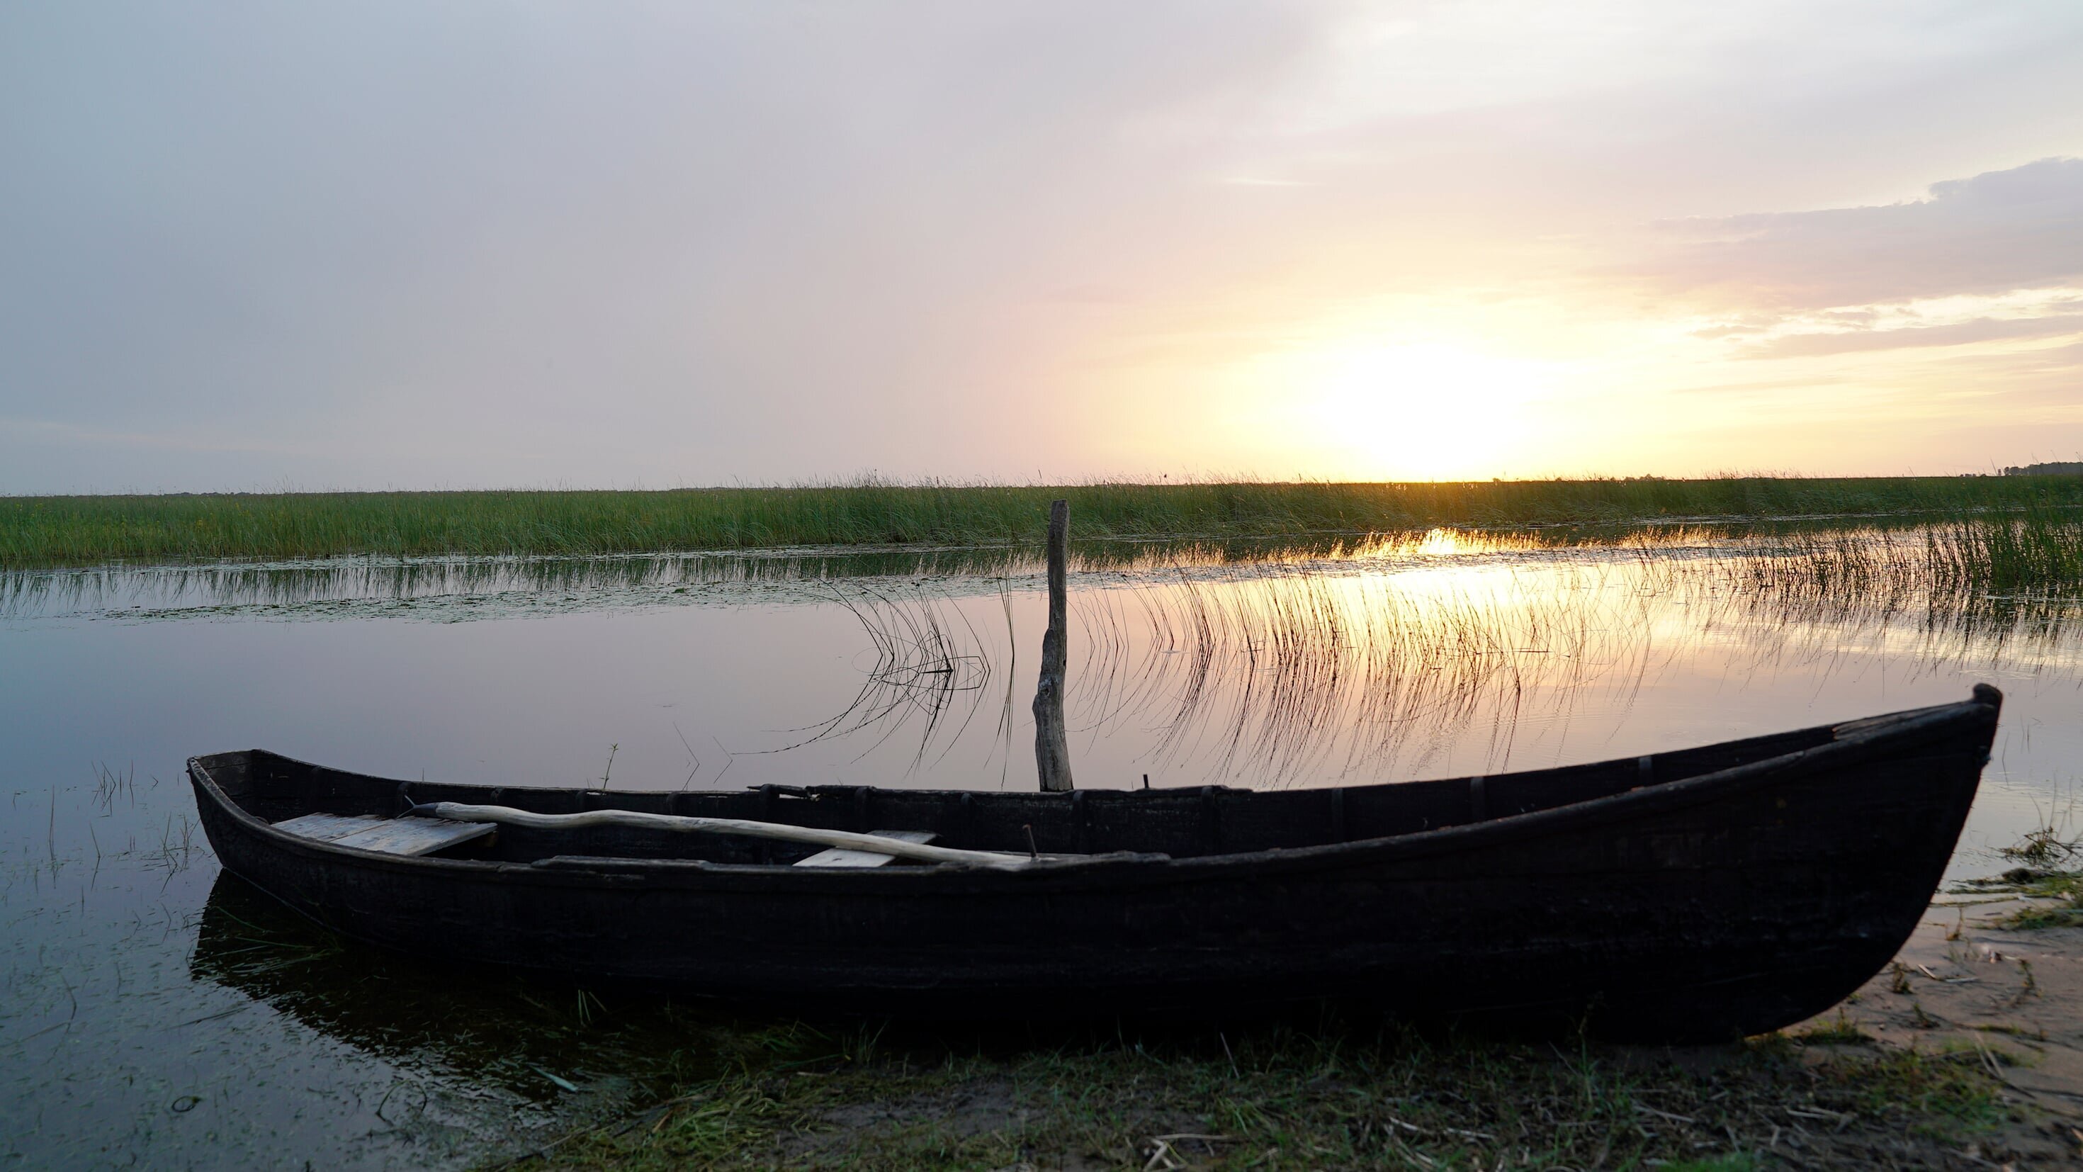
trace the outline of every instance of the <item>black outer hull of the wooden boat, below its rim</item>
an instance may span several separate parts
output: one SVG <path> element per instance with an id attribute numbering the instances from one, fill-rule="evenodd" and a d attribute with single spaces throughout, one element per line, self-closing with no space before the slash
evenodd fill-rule
<path id="1" fill-rule="evenodd" d="M 425 958 L 789 1008 L 1112 1014 L 1329 997 L 1675 1043 L 1804 1020 L 1887 964 L 1973 804 L 1996 727 L 1985 691 L 1879 735 L 1527 814 L 1019 872 L 390 858 L 271 831 L 221 785 L 237 772 L 229 754 L 190 772 L 229 870 L 346 937 Z M 237 785 L 265 789 L 258 764 Z M 354 774 L 317 772 L 335 806 L 367 801 L 344 795 Z M 1037 797 L 1071 795 L 1019 795 Z M 267 801 L 294 799 L 248 806 Z M 1108 801 L 1131 810 L 1133 795 Z"/>

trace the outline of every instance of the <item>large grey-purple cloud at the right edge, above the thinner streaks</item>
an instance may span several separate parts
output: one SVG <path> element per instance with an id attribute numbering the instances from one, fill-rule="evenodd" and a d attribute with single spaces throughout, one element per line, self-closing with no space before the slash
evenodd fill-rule
<path id="1" fill-rule="evenodd" d="M 2073 283 L 2083 158 L 1931 185 L 1927 200 L 1664 221 L 1641 271 L 1664 294 L 1804 312 Z"/>

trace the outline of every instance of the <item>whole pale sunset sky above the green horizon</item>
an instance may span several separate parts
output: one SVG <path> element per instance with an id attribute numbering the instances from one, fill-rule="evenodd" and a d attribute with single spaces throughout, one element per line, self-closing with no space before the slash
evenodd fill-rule
<path id="1" fill-rule="evenodd" d="M 2083 458 L 2083 4 L 0 8 L 0 491 Z"/>

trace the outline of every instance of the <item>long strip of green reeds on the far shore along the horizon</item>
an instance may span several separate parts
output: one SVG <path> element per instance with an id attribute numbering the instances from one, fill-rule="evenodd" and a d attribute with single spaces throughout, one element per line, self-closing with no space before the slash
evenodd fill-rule
<path id="1" fill-rule="evenodd" d="M 1283 537 L 2083 506 L 2083 477 L 817 485 L 671 491 L 0 498 L 0 568 L 348 554 L 631 554 L 1079 537 Z"/>

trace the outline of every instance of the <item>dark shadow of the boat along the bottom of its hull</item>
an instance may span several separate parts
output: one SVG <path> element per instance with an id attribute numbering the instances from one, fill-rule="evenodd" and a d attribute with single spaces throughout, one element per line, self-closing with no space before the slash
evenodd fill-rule
<path id="1" fill-rule="evenodd" d="M 1223 1055 L 1233 1045 L 1291 1039 L 1400 1037 L 1446 1047 L 1587 1041 L 1583 1018 L 1402 1018 L 1333 999 L 1098 1014 L 1066 993 L 1014 1012 L 979 1014 L 969 1003 L 892 1016 L 581 985 L 350 941 L 229 870 L 210 889 L 190 974 L 402 1070 L 533 1101 L 585 1085 L 637 1103 L 733 1072 L 864 1062 L 898 1049 L 931 1058 L 1156 1045 Z"/>

